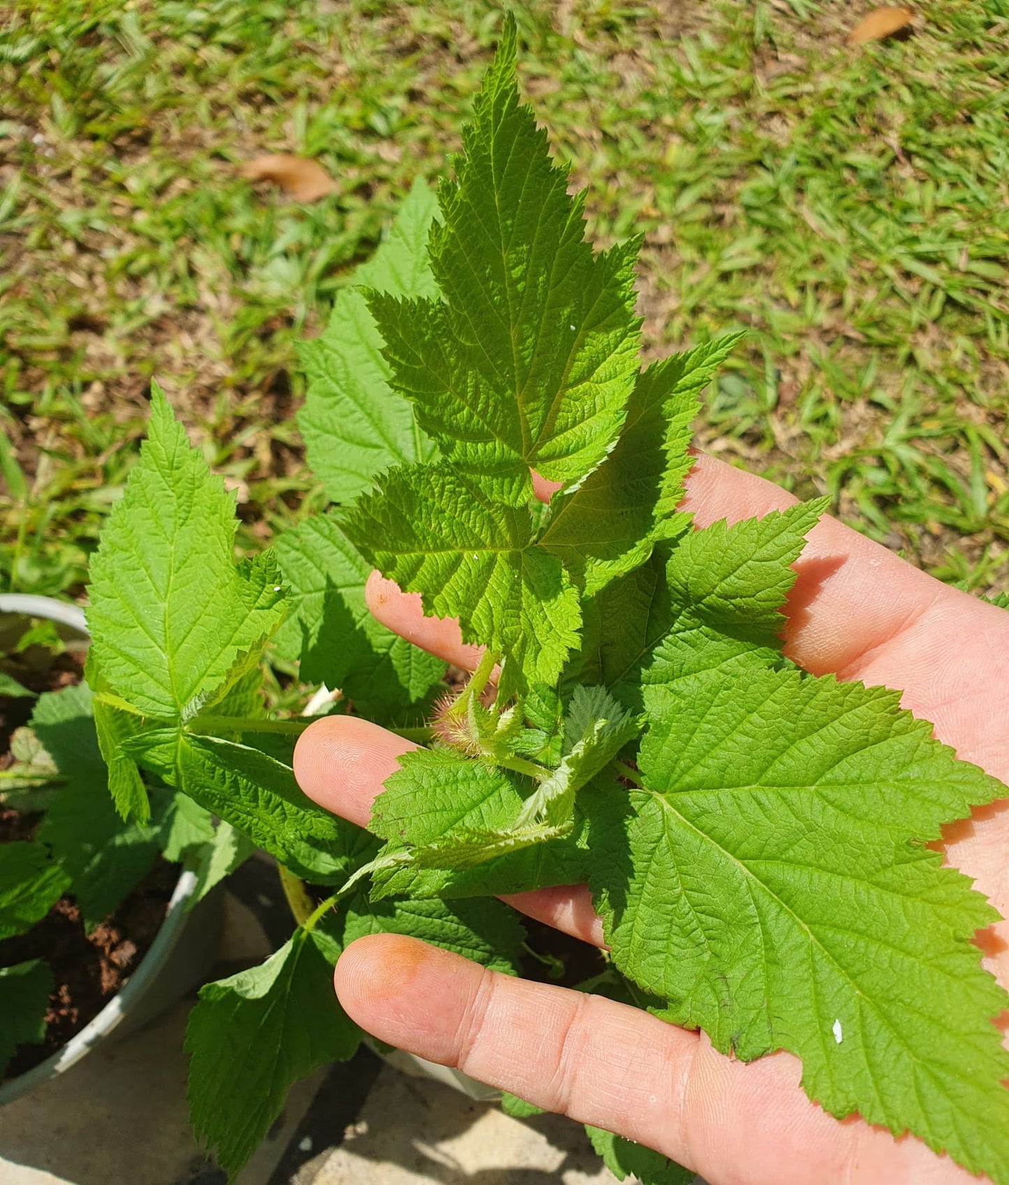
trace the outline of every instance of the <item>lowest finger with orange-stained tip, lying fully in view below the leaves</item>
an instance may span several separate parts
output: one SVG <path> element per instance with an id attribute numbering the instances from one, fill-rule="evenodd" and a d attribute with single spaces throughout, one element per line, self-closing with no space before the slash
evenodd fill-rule
<path id="1" fill-rule="evenodd" d="M 830 1119 L 802 1093 L 790 1055 L 744 1065 L 637 1008 L 489 972 L 414 939 L 352 943 L 335 986 L 380 1040 L 638 1140 L 719 1185 L 976 1180 L 914 1140 Z"/>

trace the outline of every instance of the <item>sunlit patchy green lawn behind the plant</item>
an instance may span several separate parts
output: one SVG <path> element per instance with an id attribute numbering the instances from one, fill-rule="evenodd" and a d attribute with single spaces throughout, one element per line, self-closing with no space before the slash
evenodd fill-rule
<path id="1" fill-rule="evenodd" d="M 521 73 L 635 229 L 661 353 L 748 331 L 701 438 L 947 579 L 1009 587 L 1009 0 L 519 7 Z M 0 33 L 0 587 L 82 591 L 156 376 L 262 546 L 317 507 L 291 418 L 315 332 L 493 51 L 477 0 L 31 0 Z M 264 152 L 338 181 L 250 186 Z M 2 438 L 0 438 L 2 440 Z"/>

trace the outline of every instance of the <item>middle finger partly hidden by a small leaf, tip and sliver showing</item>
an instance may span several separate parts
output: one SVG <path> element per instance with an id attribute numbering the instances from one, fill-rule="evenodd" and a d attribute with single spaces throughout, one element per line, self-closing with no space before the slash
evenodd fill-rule
<path id="1" fill-rule="evenodd" d="M 326 716 L 298 737 L 298 786 L 323 809 L 367 827 L 383 783 L 417 745 L 358 716 Z M 603 924 L 584 885 L 540 889 L 504 898 L 515 909 L 583 942 L 603 944 Z"/>

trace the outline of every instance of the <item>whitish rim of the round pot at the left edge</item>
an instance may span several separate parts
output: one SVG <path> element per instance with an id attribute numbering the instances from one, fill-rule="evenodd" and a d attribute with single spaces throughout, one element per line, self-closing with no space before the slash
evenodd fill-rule
<path id="1" fill-rule="evenodd" d="M 0 613 L 21 614 L 26 617 L 46 617 L 70 627 L 85 638 L 90 636 L 84 620 L 84 610 L 77 604 L 58 601 L 56 597 L 17 592 L 4 594 L 0 595 Z M 131 1008 L 147 993 L 148 987 L 154 982 L 175 948 L 188 917 L 187 907 L 195 888 L 195 872 L 181 872 L 168 901 L 165 920 L 136 971 L 79 1033 L 71 1037 L 65 1045 L 44 1062 L 0 1085 L 0 1106 L 19 1098 L 43 1082 L 69 1070 L 126 1019 Z"/>

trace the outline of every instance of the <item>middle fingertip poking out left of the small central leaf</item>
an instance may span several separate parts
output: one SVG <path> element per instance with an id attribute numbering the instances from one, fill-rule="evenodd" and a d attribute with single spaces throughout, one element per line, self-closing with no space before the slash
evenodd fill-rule
<path id="1" fill-rule="evenodd" d="M 372 802 L 411 741 L 358 716 L 326 716 L 298 737 L 294 752 L 297 784 L 314 802 L 366 827 Z"/>

